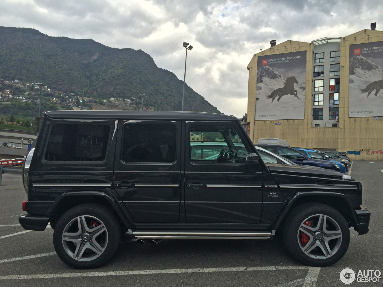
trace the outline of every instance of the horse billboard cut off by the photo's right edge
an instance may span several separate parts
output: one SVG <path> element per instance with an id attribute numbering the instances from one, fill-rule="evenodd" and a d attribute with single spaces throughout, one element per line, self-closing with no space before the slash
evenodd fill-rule
<path id="1" fill-rule="evenodd" d="M 383 116 L 383 42 L 350 45 L 349 117 Z"/>

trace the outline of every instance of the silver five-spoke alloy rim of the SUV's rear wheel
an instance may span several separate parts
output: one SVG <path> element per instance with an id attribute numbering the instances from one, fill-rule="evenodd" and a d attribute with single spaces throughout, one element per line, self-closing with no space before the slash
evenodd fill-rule
<path id="1" fill-rule="evenodd" d="M 108 245 L 108 231 L 100 219 L 81 215 L 65 226 L 62 245 L 73 259 L 91 261 L 98 258 Z"/>

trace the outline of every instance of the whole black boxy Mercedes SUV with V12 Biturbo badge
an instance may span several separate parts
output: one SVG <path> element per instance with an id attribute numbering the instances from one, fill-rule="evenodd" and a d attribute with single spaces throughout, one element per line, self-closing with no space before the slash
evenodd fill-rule
<path id="1" fill-rule="evenodd" d="M 311 266 L 344 256 L 350 227 L 368 232 L 362 185 L 337 171 L 268 164 L 238 119 L 151 111 L 51 111 L 23 170 L 20 224 L 50 223 L 57 255 L 94 268 L 121 234 L 269 239 Z"/>

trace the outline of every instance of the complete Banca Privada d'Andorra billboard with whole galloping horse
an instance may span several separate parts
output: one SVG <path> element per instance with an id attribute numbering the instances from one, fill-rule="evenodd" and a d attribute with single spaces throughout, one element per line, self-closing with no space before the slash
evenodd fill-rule
<path id="1" fill-rule="evenodd" d="M 306 51 L 258 56 L 255 120 L 304 119 Z"/>

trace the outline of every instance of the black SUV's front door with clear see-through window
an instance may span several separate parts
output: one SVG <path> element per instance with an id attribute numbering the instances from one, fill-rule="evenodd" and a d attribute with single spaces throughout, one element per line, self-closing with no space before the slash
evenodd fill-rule
<path id="1" fill-rule="evenodd" d="M 245 166 L 255 152 L 237 122 L 187 122 L 187 223 L 260 223 L 262 165 Z"/>

